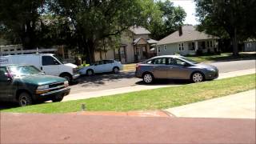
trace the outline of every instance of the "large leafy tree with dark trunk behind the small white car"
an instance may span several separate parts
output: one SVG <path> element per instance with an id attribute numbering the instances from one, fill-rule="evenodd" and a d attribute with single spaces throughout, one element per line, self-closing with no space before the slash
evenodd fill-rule
<path id="1" fill-rule="evenodd" d="M 74 28 L 74 38 L 86 62 L 94 61 L 94 52 L 103 44 L 116 43 L 123 30 L 150 22 L 143 3 L 153 0 L 50 0 L 52 14 L 67 18 Z"/>

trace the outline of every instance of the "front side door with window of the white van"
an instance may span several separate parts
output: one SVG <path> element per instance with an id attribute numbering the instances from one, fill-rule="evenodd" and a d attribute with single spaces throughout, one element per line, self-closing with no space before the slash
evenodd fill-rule
<path id="1" fill-rule="evenodd" d="M 52 56 L 42 56 L 42 66 L 40 70 L 43 70 L 47 75 L 56 75 L 59 76 L 59 68 L 61 63 Z"/>

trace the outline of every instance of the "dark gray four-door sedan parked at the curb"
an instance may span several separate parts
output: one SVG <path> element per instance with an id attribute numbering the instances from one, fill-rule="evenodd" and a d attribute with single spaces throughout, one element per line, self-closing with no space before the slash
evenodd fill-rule
<path id="1" fill-rule="evenodd" d="M 218 69 L 186 57 L 162 55 L 137 64 L 135 75 L 146 83 L 151 83 L 158 78 L 190 79 L 192 82 L 202 82 L 218 78 Z"/>

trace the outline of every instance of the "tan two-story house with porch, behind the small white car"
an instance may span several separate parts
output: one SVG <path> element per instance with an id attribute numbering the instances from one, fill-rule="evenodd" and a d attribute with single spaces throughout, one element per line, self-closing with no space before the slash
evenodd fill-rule
<path id="1" fill-rule="evenodd" d="M 117 49 L 96 52 L 95 60 L 115 59 L 122 63 L 142 62 L 157 55 L 154 48 L 158 41 L 150 38 L 150 31 L 142 26 L 133 26 L 121 34 Z M 102 54 L 103 53 L 103 54 Z"/>

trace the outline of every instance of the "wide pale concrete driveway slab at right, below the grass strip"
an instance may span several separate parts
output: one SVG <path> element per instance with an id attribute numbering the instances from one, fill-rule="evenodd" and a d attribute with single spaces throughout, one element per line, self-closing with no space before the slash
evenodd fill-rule
<path id="1" fill-rule="evenodd" d="M 166 111 L 176 117 L 189 118 L 255 118 L 255 90 L 231 94 Z"/>

